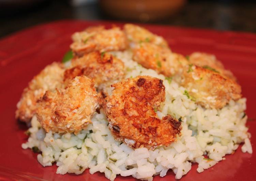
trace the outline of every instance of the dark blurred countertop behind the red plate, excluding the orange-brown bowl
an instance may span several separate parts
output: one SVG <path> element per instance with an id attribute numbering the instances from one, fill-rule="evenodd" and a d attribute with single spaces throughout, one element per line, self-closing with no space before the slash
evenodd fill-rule
<path id="1" fill-rule="evenodd" d="M 0 38 L 40 23 L 61 19 L 118 20 L 102 13 L 94 2 L 74 7 L 67 1 L 48 0 L 27 10 L 6 12 L 0 14 Z M 256 3 L 189 1 L 172 17 L 150 23 L 256 33 Z"/>

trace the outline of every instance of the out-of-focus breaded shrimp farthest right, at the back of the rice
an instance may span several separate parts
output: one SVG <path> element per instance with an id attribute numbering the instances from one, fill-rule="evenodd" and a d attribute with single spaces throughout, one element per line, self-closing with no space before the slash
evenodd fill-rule
<path id="1" fill-rule="evenodd" d="M 226 70 L 223 64 L 216 59 L 215 55 L 201 52 L 194 52 L 189 56 L 189 62 L 199 67 L 208 68 L 221 75 L 236 81 L 236 77 L 229 70 Z"/>

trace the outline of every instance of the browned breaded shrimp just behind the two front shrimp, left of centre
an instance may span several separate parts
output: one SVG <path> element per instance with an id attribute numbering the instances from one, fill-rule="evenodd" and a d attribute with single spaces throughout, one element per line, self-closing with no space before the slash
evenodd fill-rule
<path id="1" fill-rule="evenodd" d="M 123 62 L 109 53 L 91 52 L 73 59 L 71 65 L 73 68 L 67 69 L 64 73 L 65 80 L 85 75 L 95 81 L 95 86 L 99 86 L 102 83 L 120 80 L 124 76 Z"/>

